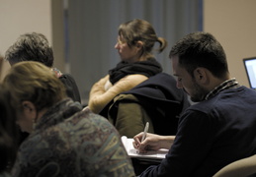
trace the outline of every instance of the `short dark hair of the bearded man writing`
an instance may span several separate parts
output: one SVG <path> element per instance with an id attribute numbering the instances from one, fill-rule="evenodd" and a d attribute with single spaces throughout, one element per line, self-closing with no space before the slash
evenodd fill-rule
<path id="1" fill-rule="evenodd" d="M 222 78 L 228 73 L 225 52 L 209 32 L 192 32 L 180 39 L 171 49 L 169 57 L 178 56 L 179 64 L 193 77 L 198 67 L 204 67 L 213 76 Z"/>

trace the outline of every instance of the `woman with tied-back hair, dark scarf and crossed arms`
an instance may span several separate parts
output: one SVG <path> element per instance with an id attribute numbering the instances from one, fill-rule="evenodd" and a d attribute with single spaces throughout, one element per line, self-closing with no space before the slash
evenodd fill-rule
<path id="1" fill-rule="evenodd" d="M 144 20 L 134 19 L 119 27 L 115 48 L 121 62 L 93 85 L 88 103 L 93 112 L 106 116 L 103 109 L 116 95 L 162 72 L 161 65 L 152 53 L 155 42 L 159 43 L 156 49 L 159 53 L 167 46 L 167 41 L 158 37 L 152 26 Z"/>

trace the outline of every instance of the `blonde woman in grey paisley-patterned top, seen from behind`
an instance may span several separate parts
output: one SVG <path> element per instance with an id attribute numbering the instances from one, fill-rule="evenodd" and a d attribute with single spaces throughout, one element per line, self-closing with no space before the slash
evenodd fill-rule
<path id="1" fill-rule="evenodd" d="M 15 64 L 3 81 L 15 122 L 30 136 L 19 148 L 12 176 L 134 176 L 117 130 L 67 97 L 40 62 Z"/>

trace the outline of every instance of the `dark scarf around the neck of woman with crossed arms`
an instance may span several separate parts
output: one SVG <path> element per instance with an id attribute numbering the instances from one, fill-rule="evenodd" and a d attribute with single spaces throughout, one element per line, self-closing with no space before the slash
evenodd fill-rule
<path id="1" fill-rule="evenodd" d="M 149 78 L 161 72 L 161 65 L 154 58 L 149 58 L 146 61 L 135 63 L 122 61 L 117 65 L 116 68 L 109 71 L 109 75 L 110 82 L 114 85 L 128 75 L 140 74 Z"/>

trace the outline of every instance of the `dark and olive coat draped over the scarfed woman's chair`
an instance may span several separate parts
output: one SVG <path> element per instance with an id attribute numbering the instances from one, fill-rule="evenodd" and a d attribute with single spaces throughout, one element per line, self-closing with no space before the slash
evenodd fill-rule
<path id="1" fill-rule="evenodd" d="M 175 135 L 180 114 L 190 106 L 187 95 L 176 88 L 175 79 L 165 73 L 116 96 L 108 119 L 120 134 L 132 138 L 149 122 L 149 132 Z"/>

